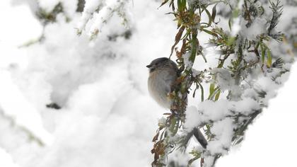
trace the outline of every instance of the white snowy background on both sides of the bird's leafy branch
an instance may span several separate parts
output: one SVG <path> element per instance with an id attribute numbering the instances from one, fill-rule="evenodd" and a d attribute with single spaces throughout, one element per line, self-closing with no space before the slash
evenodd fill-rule
<path id="1" fill-rule="evenodd" d="M 129 39 L 113 17 L 90 42 L 76 35 L 76 6 L 66 8 L 69 22 L 58 15 L 43 28 L 31 2 L 0 1 L 0 166 L 150 166 L 151 139 L 166 110 L 148 96 L 145 66 L 170 54 L 176 28 L 166 8 L 133 1 Z M 240 148 L 216 166 L 297 165 L 296 75 L 294 65 Z"/>

